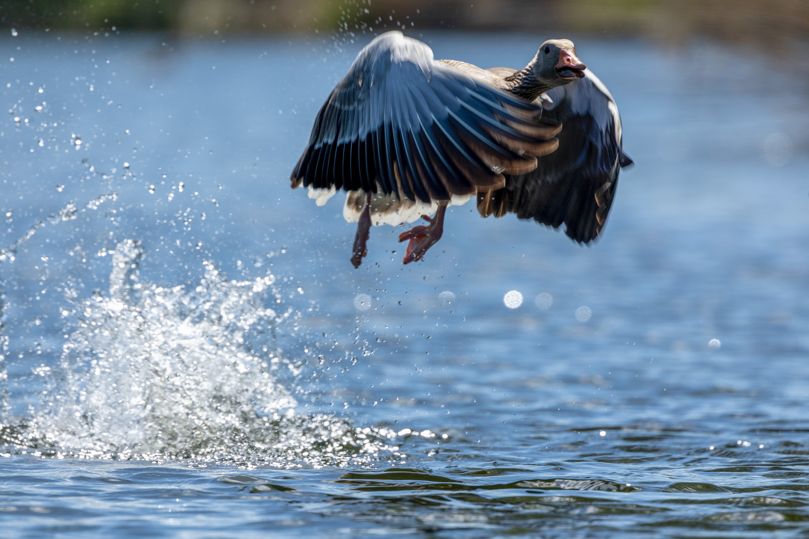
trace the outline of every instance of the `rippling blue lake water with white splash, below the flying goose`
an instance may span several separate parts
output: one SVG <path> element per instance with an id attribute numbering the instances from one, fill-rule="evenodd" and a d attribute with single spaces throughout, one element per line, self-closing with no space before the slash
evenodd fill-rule
<path id="1" fill-rule="evenodd" d="M 5 533 L 809 532 L 807 78 L 576 43 L 637 162 L 604 238 L 453 207 L 354 270 L 287 181 L 359 43 L 4 37 Z"/>

